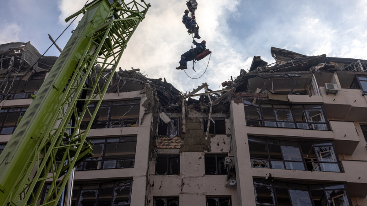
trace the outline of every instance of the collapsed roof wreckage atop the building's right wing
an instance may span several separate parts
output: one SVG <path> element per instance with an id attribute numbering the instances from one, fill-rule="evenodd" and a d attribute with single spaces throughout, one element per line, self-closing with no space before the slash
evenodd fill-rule
<path id="1" fill-rule="evenodd" d="M 313 79 L 323 86 L 333 73 L 362 73 L 367 70 L 367 60 L 326 57 L 326 54 L 306 56 L 275 47 L 271 48 L 271 54 L 275 63 L 268 65 L 260 56 L 254 56 L 248 73 L 241 71 L 240 76 L 223 86 L 234 88 L 235 97 L 239 93 L 252 98 L 256 96 L 254 93 L 311 96 L 317 95 L 312 89 L 317 86 L 312 85 Z M 343 77 L 344 84 L 349 86 L 353 77 L 354 73 Z"/>

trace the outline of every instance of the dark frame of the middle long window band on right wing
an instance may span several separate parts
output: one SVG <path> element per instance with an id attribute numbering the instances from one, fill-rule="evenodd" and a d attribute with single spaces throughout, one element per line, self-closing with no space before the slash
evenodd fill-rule
<path id="1" fill-rule="evenodd" d="M 251 138 L 262 139 L 262 140 L 264 140 L 264 143 L 259 143 L 259 142 L 256 142 L 256 141 L 252 141 Z M 276 143 L 269 143 L 269 141 L 278 141 L 279 143 L 277 143 L 277 144 Z M 297 143 L 297 146 L 298 146 L 298 149 L 299 149 L 300 156 L 301 156 L 302 160 L 297 161 L 297 160 L 284 159 L 283 152 L 282 152 L 283 149 L 281 147 L 282 144 L 280 143 L 281 141 L 283 141 L 283 142 L 288 141 L 288 142 Z M 251 142 L 256 143 L 256 144 L 265 144 L 265 149 L 266 149 L 265 152 L 266 152 L 266 155 L 267 155 L 268 158 L 265 159 L 265 158 L 251 157 L 251 148 L 250 148 Z M 307 158 L 304 157 L 304 152 L 302 152 L 301 142 L 312 143 L 311 149 L 313 150 L 313 153 L 315 154 L 315 157 L 307 157 Z M 320 142 L 327 142 L 328 144 L 327 145 L 317 145 L 317 143 L 320 143 Z M 272 146 L 272 145 L 278 145 L 279 146 L 280 154 L 282 156 L 282 159 L 272 159 L 271 158 L 271 156 L 270 156 L 271 152 L 270 152 L 269 144 L 270 144 L 270 146 Z M 286 162 L 302 162 L 303 166 L 304 166 L 304 171 L 337 172 L 337 171 L 324 171 L 324 170 L 322 170 L 322 169 L 325 169 L 324 164 L 326 163 L 326 164 L 337 164 L 338 169 L 339 169 L 338 173 L 343 172 L 342 166 L 341 166 L 339 158 L 338 158 L 338 154 L 335 151 L 334 141 L 330 141 L 330 140 L 302 140 L 302 141 L 299 141 L 299 140 L 292 140 L 292 139 L 276 139 L 276 138 L 262 138 L 262 137 L 256 137 L 256 136 L 248 136 L 248 147 L 249 147 L 249 152 L 250 152 L 250 162 L 251 162 L 251 167 L 252 168 L 279 169 L 279 168 L 273 168 L 273 162 L 277 161 L 277 162 L 283 162 L 283 169 L 285 169 L 285 170 L 297 170 L 297 169 L 293 169 L 293 168 L 292 169 L 286 169 L 287 168 Z M 332 157 L 333 157 L 333 159 L 335 158 L 335 161 L 334 162 L 319 161 L 317 155 L 321 155 L 320 153 L 322 153 L 322 152 L 318 153 L 318 151 L 316 150 L 316 147 L 332 147 L 333 150 L 327 150 L 327 151 L 322 151 L 322 152 L 331 151 L 331 154 L 333 154 Z M 306 159 L 311 159 L 311 161 L 306 161 Z M 320 159 L 322 159 L 322 158 L 320 158 Z M 269 165 L 269 167 L 268 168 L 266 168 L 266 167 L 254 167 L 254 164 L 252 163 L 253 160 L 258 160 L 258 161 L 264 161 L 265 160 L 265 161 L 267 161 L 267 164 Z M 263 162 L 263 163 L 266 163 L 266 162 Z M 308 163 L 312 163 L 313 168 L 315 168 L 315 165 L 317 165 L 316 168 L 319 168 L 319 170 L 308 170 L 308 167 L 307 167 Z"/>

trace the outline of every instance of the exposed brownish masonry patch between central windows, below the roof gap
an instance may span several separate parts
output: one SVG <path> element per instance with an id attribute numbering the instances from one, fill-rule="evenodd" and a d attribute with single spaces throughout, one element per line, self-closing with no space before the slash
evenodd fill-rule
<path id="1" fill-rule="evenodd" d="M 210 151 L 210 137 L 205 139 L 202 118 L 186 118 L 186 133 L 181 137 L 185 139 L 180 152 Z"/>

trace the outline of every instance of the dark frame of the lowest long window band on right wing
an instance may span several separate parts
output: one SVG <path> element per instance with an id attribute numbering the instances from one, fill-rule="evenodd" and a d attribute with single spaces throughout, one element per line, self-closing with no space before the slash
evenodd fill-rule
<path id="1" fill-rule="evenodd" d="M 255 180 L 266 181 L 269 184 L 255 183 Z M 279 186 L 279 185 L 275 185 L 275 184 L 279 184 L 279 185 L 283 185 L 283 186 Z M 337 184 L 337 185 L 343 185 L 344 188 L 326 188 L 329 185 L 331 186 L 331 185 L 335 185 L 335 184 Z M 313 202 L 312 191 L 323 191 L 323 194 L 327 197 L 327 191 L 335 191 L 335 190 L 341 191 L 342 190 L 342 191 L 345 192 L 344 194 L 346 195 L 346 199 L 349 202 L 349 206 L 352 206 L 352 204 L 351 204 L 352 201 L 350 199 L 348 188 L 347 188 L 346 184 L 344 184 L 344 183 L 329 183 L 329 184 L 318 183 L 317 185 L 318 186 L 322 186 L 322 189 L 312 189 L 310 187 L 310 185 L 316 185 L 316 184 L 295 184 L 295 183 L 290 183 L 290 182 L 287 182 L 287 181 L 269 181 L 269 180 L 264 180 L 264 179 L 253 178 L 253 185 L 254 185 L 255 204 L 256 204 L 256 206 L 266 206 L 266 205 L 269 205 L 269 203 L 265 203 L 265 204 L 257 203 L 257 196 L 256 196 L 256 190 L 257 189 L 256 189 L 256 187 L 268 187 L 268 188 L 272 188 L 272 191 L 273 191 L 273 200 L 274 200 L 273 206 L 277 206 L 278 205 L 278 197 L 277 197 L 277 194 L 276 194 L 276 188 L 286 189 L 287 190 L 287 192 L 288 192 L 288 198 L 289 198 L 290 203 L 292 203 L 292 198 L 291 198 L 291 195 L 290 195 L 290 190 L 308 191 L 309 199 L 310 199 L 310 202 L 311 202 L 312 206 L 315 206 L 315 203 Z M 286 186 L 284 187 L 284 185 L 286 185 Z M 294 187 L 292 187 L 290 185 L 292 185 Z M 297 186 L 298 187 L 302 187 L 302 186 L 303 187 L 306 187 L 307 190 L 296 188 Z M 341 195 L 337 195 L 337 196 L 341 196 Z M 337 196 L 335 196 L 332 199 L 335 199 Z M 328 203 L 328 201 L 327 201 L 327 205 L 330 206 L 330 204 Z"/>

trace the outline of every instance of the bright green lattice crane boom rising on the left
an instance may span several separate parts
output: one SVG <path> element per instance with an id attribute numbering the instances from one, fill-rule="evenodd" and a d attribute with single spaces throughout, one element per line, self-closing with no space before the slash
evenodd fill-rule
<path id="1" fill-rule="evenodd" d="M 95 0 L 66 19 L 84 14 L 0 155 L 0 206 L 56 206 L 72 169 L 91 155 L 91 123 L 150 7 L 126 1 Z M 95 102 L 94 110 L 88 107 Z M 83 118 L 90 119 L 86 130 L 80 128 Z"/>

